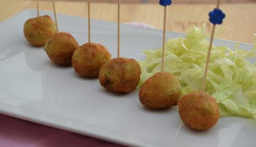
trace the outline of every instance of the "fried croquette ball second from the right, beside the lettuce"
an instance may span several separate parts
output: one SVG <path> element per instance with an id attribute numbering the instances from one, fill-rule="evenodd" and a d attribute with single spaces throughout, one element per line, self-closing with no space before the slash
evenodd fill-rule
<path id="1" fill-rule="evenodd" d="M 164 109 L 177 104 L 181 85 L 175 75 L 156 73 L 142 84 L 139 99 L 142 105 L 151 109 Z"/>

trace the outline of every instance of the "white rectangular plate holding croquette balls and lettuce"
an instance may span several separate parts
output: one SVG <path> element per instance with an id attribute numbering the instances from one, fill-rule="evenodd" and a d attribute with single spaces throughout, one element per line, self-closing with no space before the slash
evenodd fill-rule
<path id="1" fill-rule="evenodd" d="M 53 18 L 51 12 L 41 14 Z M 98 79 L 81 78 L 72 67 L 53 64 L 43 48 L 32 47 L 23 37 L 23 24 L 32 17 L 36 11 L 26 10 L 0 23 L 0 113 L 130 146 L 255 146 L 255 119 L 220 118 L 213 129 L 192 131 L 181 122 L 176 107 L 145 109 L 138 90 L 112 94 Z M 58 23 L 78 43 L 87 41 L 85 18 L 58 15 Z M 116 57 L 116 26 L 92 21 L 92 41 L 105 45 L 112 57 Z M 167 33 L 168 38 L 182 36 Z M 214 44 L 232 48 L 235 43 L 215 39 Z M 159 47 L 161 31 L 121 25 L 122 56 L 142 59 L 142 49 Z"/>

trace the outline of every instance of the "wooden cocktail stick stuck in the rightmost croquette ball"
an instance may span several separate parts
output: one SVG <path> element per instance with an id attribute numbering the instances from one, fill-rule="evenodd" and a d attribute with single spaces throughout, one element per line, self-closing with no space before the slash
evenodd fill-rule
<path id="1" fill-rule="evenodd" d="M 216 5 L 216 9 L 219 9 L 219 6 L 220 6 L 220 0 L 217 1 L 217 5 Z M 221 12 L 222 13 L 222 12 Z M 225 14 L 222 13 L 225 17 Z M 211 17 L 211 16 L 210 16 Z M 223 18 L 224 18 L 223 17 Z M 222 23 L 222 19 L 223 18 L 219 18 L 216 17 L 217 19 L 221 19 L 221 23 Z M 216 19 L 215 18 L 215 19 Z M 211 21 L 211 20 L 210 20 Z M 216 20 L 214 20 L 216 21 Z M 206 77 L 207 77 L 207 73 L 208 73 L 208 68 L 209 68 L 209 62 L 210 62 L 210 54 L 211 54 L 211 48 L 213 47 L 213 38 L 214 38 L 214 32 L 215 32 L 215 27 L 216 27 L 216 24 L 221 24 L 221 23 L 217 23 L 217 22 L 211 22 L 213 23 L 213 29 L 211 30 L 211 38 L 210 38 L 210 45 L 209 45 L 209 50 L 208 50 L 208 54 L 207 54 L 207 59 L 206 59 L 206 64 L 205 64 L 205 71 L 204 71 L 204 78 L 203 78 L 203 82 L 202 82 L 202 88 L 201 88 L 201 96 L 203 96 L 203 93 L 204 93 L 204 89 L 205 89 L 205 82 L 206 82 Z"/>

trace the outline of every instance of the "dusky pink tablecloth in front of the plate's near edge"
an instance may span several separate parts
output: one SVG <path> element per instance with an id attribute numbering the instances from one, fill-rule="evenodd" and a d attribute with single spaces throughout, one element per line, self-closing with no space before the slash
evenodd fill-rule
<path id="1" fill-rule="evenodd" d="M 0 114 L 1 147 L 123 147 Z"/>

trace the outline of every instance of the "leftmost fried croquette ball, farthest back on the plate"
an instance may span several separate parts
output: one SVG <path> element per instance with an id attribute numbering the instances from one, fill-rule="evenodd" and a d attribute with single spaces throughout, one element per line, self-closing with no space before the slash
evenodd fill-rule
<path id="1" fill-rule="evenodd" d="M 36 46 L 45 45 L 46 41 L 57 33 L 55 23 L 50 16 L 40 16 L 26 21 L 24 36 L 29 43 Z"/>

